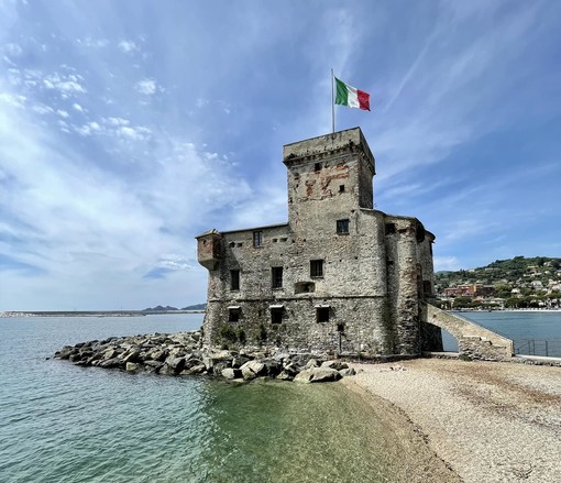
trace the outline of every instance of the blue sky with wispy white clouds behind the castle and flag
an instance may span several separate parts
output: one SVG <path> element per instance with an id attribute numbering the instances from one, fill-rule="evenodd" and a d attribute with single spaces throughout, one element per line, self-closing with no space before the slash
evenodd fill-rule
<path id="1" fill-rule="evenodd" d="M 561 2 L 0 2 L 0 311 L 206 300 L 195 237 L 287 220 L 337 106 L 436 270 L 561 256 Z"/>

